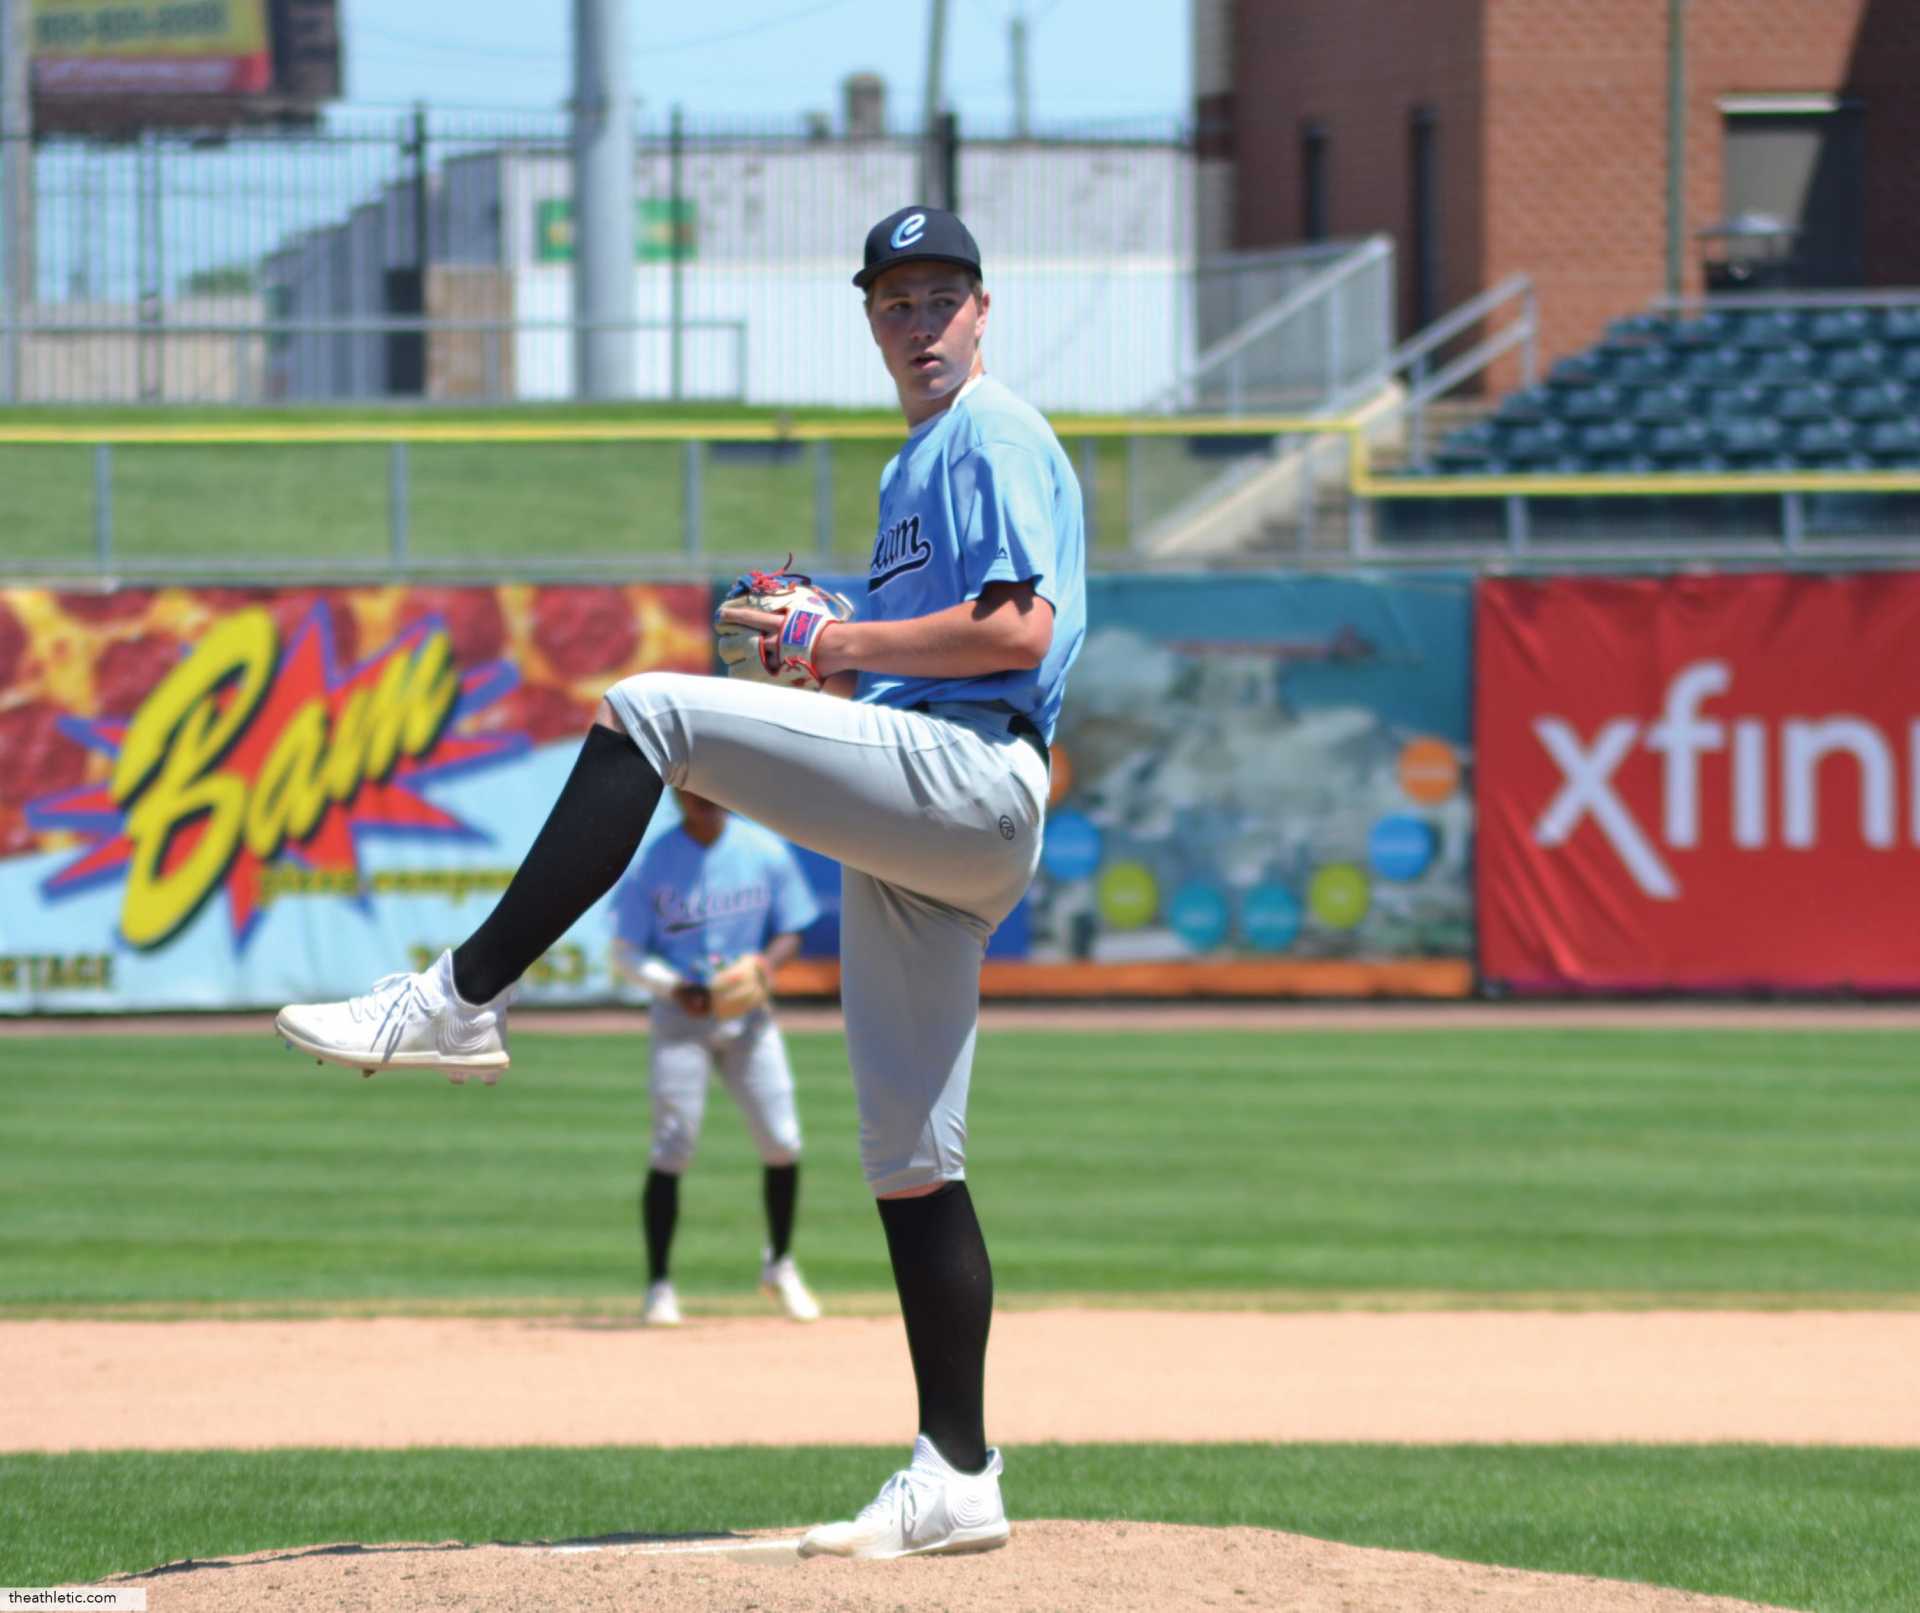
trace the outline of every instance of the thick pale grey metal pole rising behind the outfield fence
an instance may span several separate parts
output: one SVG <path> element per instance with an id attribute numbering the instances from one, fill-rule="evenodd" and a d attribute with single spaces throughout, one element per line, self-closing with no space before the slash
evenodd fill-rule
<path id="1" fill-rule="evenodd" d="M 574 0 L 574 396 L 634 392 L 628 0 Z"/>

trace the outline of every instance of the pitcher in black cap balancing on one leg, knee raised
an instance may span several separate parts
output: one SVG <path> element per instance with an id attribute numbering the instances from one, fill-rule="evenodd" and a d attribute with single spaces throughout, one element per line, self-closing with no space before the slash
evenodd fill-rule
<path id="1" fill-rule="evenodd" d="M 1085 636 L 1085 518 L 1046 421 L 985 376 L 989 298 L 966 227 L 933 207 L 883 219 L 854 284 L 910 426 L 881 474 L 858 618 L 818 595 L 753 609 L 780 580 L 743 580 L 720 611 L 743 676 L 609 689 L 486 922 L 424 974 L 286 1008 L 278 1029 L 336 1064 L 495 1075 L 513 983 L 620 878 L 666 783 L 837 858 L 860 1162 L 920 1438 L 858 1517 L 803 1550 L 897 1557 L 1008 1536 L 981 1409 L 993 1267 L 964 1179 L 966 1098 L 985 943 L 1039 862 L 1046 741 Z"/>

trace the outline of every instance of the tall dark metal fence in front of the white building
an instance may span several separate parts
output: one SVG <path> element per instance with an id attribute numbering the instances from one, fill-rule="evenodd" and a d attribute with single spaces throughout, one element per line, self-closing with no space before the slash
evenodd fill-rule
<path id="1" fill-rule="evenodd" d="M 1217 309 L 1260 301 L 1263 261 L 1200 273 L 1192 161 L 1173 127 L 958 142 L 989 353 L 1016 390 L 1156 405 L 1221 334 Z M 0 309 L 8 401 L 574 394 L 563 113 L 348 108 L 305 131 L 46 138 L 29 169 L 31 269 Z M 925 169 L 918 136 L 881 127 L 643 127 L 628 394 L 891 407 L 849 277 L 868 225 L 925 200 Z"/>

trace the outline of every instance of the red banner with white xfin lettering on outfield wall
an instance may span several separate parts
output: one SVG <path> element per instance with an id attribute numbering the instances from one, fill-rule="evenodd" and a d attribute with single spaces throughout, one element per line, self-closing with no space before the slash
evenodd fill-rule
<path id="1" fill-rule="evenodd" d="M 1488 981 L 1920 987 L 1920 576 L 1488 582 L 1475 662 Z"/>

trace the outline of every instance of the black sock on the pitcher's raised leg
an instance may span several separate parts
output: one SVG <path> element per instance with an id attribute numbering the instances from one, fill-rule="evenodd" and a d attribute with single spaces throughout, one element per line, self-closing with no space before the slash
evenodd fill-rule
<path id="1" fill-rule="evenodd" d="M 453 987 L 492 1002 L 626 872 L 660 803 L 660 776 L 639 747 L 593 724 L 561 799 L 493 912 L 453 952 Z"/>

